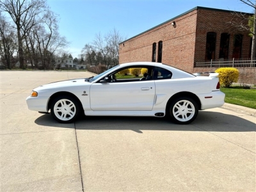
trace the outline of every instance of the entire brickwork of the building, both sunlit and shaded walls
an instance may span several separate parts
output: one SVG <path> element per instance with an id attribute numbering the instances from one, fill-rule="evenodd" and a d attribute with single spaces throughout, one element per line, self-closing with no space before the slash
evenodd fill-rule
<path id="1" fill-rule="evenodd" d="M 158 42 L 163 41 L 162 63 L 193 72 L 194 63 L 205 60 L 207 32 L 216 33 L 216 59 L 219 58 L 221 33 L 230 33 L 228 55 L 232 58 L 234 35 L 238 33 L 227 24 L 232 17 L 228 11 L 200 7 L 191 10 L 120 44 L 119 62 L 152 61 L 152 44 L 156 42 L 158 50 Z M 172 26 L 173 21 L 175 27 Z M 242 57 L 248 58 L 250 37 L 242 34 Z"/>

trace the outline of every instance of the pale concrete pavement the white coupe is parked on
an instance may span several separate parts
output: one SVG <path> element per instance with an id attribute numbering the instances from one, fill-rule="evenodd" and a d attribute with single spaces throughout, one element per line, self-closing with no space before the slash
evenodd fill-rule
<path id="1" fill-rule="evenodd" d="M 225 104 L 189 125 L 29 111 L 40 84 L 87 72 L 1 71 L 1 191 L 255 191 L 255 110 Z M 254 115 L 253 115 L 254 114 Z"/>

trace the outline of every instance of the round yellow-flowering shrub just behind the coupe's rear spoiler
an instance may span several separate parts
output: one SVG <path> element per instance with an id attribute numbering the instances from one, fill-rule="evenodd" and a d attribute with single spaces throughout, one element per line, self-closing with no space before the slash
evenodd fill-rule
<path id="1" fill-rule="evenodd" d="M 239 77 L 239 70 L 233 67 L 223 67 L 215 70 L 219 74 L 220 84 L 229 87 L 232 83 L 236 83 Z"/>

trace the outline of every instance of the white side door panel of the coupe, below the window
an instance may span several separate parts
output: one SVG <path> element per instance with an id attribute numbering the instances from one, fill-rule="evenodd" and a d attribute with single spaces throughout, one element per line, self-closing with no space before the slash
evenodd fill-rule
<path id="1" fill-rule="evenodd" d="M 152 110 L 155 97 L 154 80 L 93 83 L 90 106 L 93 111 Z"/>

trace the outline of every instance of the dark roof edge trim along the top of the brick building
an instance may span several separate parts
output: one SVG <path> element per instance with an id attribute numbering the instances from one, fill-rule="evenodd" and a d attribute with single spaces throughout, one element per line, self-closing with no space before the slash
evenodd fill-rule
<path id="1" fill-rule="evenodd" d="M 191 10 L 188 10 L 187 12 L 184 12 L 184 13 L 181 13 L 180 15 L 177 15 L 176 17 L 173 17 L 172 19 L 169 19 L 169 20 L 166 20 L 165 22 L 162 22 L 161 24 L 157 25 L 157 26 L 154 26 L 153 28 L 150 28 L 148 29 L 147 31 L 143 31 L 142 33 L 139 33 L 138 35 L 135 35 L 135 36 L 132 36 L 131 38 L 128 38 L 127 40 L 124 40 L 123 42 L 120 42 L 119 45 L 121 44 L 124 44 L 125 42 L 131 40 L 132 38 L 135 38 L 137 36 L 140 36 L 144 33 L 147 33 L 148 31 L 151 31 L 152 29 L 156 29 L 158 28 L 159 26 L 163 26 L 164 24 L 172 21 L 172 20 L 175 20 L 183 15 L 186 15 L 190 12 L 193 12 L 195 10 L 212 10 L 212 11 L 216 11 L 216 12 L 236 12 L 236 11 L 232 11 L 232 10 L 221 10 L 221 9 L 216 9 L 216 8 L 207 8 L 207 7 L 204 7 L 204 6 L 196 6 L 195 8 L 192 8 Z M 243 14 L 250 14 L 250 15 L 253 15 L 253 13 L 246 13 L 246 12 L 236 12 L 236 13 L 243 13 Z"/>

